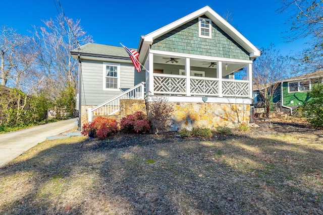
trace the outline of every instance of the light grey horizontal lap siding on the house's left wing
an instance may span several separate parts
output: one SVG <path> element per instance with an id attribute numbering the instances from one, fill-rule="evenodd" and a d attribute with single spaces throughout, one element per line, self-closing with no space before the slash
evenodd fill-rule
<path id="1" fill-rule="evenodd" d="M 104 62 L 109 63 L 109 61 Z M 120 71 L 121 89 L 129 89 L 135 85 L 135 82 L 144 81 L 144 71 L 135 74 L 131 63 L 120 63 Z M 82 90 L 82 105 L 98 105 L 122 93 L 103 90 L 103 61 L 95 60 L 82 61 Z"/>

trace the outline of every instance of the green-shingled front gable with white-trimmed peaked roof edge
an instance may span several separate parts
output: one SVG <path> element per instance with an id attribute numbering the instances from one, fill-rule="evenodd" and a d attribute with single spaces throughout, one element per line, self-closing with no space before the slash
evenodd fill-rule
<path id="1" fill-rule="evenodd" d="M 175 22 L 172 22 L 164 27 L 161 27 L 161 28 L 159 28 L 159 29 L 157 29 L 145 36 L 141 36 L 140 41 L 139 41 L 139 46 L 138 46 L 138 52 L 140 54 L 139 60 L 141 62 L 143 62 L 145 60 L 145 58 L 147 57 L 148 50 L 153 45 L 153 42 L 155 44 L 155 47 L 154 47 L 155 49 L 168 47 L 168 46 L 166 46 L 166 43 L 163 44 L 164 47 L 161 43 L 158 44 L 158 46 L 156 45 L 156 43 L 159 43 L 159 42 L 165 40 L 167 37 L 171 37 L 179 32 L 182 32 L 184 29 L 186 30 L 186 29 L 191 29 L 194 27 L 198 28 L 198 18 L 204 17 L 204 16 L 207 17 L 211 21 L 212 31 L 213 31 L 213 29 L 218 29 L 218 32 L 221 32 L 221 34 L 225 38 L 227 38 L 225 41 L 221 41 L 221 43 L 220 43 L 220 44 L 223 44 L 224 46 L 219 47 L 219 48 L 217 46 L 217 48 L 214 50 L 214 52 L 219 51 L 219 49 L 221 50 L 221 48 L 225 48 L 226 52 L 229 49 L 233 49 L 234 51 L 239 52 L 239 54 L 237 54 L 237 53 L 234 54 L 235 57 L 237 57 L 238 59 L 245 59 L 243 56 L 244 54 L 241 53 L 240 51 L 237 51 L 239 49 L 236 49 L 236 47 L 235 48 L 230 47 L 230 45 L 235 44 L 238 47 L 240 46 L 239 48 L 240 48 L 240 50 L 242 50 L 242 52 L 245 53 L 245 51 L 246 51 L 249 54 L 249 58 L 248 58 L 249 60 L 250 59 L 252 60 L 252 59 L 260 56 L 261 53 L 257 47 L 255 47 L 250 41 L 248 41 L 240 32 L 237 31 L 237 29 L 235 29 L 232 25 L 230 25 L 219 14 L 214 12 L 210 7 L 205 6 L 204 8 L 201 8 L 201 9 L 199 9 L 199 10 L 197 10 L 197 11 L 195 11 L 195 12 L 193 12 L 193 13 L 191 13 L 179 20 L 176 20 Z M 194 24 L 196 24 L 196 26 Z M 191 28 L 184 27 L 184 29 L 181 29 L 181 28 L 183 28 L 183 26 L 186 26 L 186 25 L 188 25 Z M 191 29 L 191 30 L 193 30 L 193 29 Z M 197 30 L 197 32 L 198 32 L 198 30 Z M 183 41 L 183 38 L 180 38 L 180 39 L 176 38 L 176 41 L 173 38 L 170 38 L 170 40 L 167 42 L 170 42 L 170 44 L 176 45 L 176 46 L 185 46 L 186 49 L 188 49 L 190 51 L 192 51 L 192 48 L 193 48 L 193 51 L 196 51 L 196 50 L 194 50 L 194 48 L 198 48 L 198 47 L 194 47 L 194 46 L 196 46 L 195 43 L 193 43 L 191 46 L 190 45 L 191 41 L 189 41 L 188 44 L 178 44 L 180 42 L 185 43 L 186 41 L 188 41 L 188 39 L 185 38 L 185 36 L 189 37 L 189 36 L 191 36 L 191 33 L 192 32 L 187 32 L 185 35 L 183 35 L 184 39 L 185 39 L 184 41 Z M 212 32 L 212 34 L 213 34 L 213 32 Z M 220 39 L 221 37 L 218 37 L 218 38 Z M 158 39 L 158 40 L 156 40 L 156 39 Z M 194 37 L 194 39 L 195 39 L 195 37 Z M 217 42 L 216 40 L 214 40 L 214 41 Z M 214 41 L 211 43 L 211 45 L 212 45 L 211 47 L 215 46 Z M 204 49 L 205 49 L 205 47 L 208 49 L 209 47 L 207 45 L 209 45 L 209 44 L 206 44 L 207 42 L 205 42 L 203 40 L 201 40 L 200 42 L 201 42 L 201 45 L 203 46 L 203 47 L 199 47 L 199 48 L 203 48 L 202 50 L 200 49 L 200 51 L 203 51 L 203 52 L 207 51 Z M 174 47 L 174 46 L 172 46 L 172 48 L 176 48 L 176 50 L 182 49 L 182 48 Z M 179 52 L 182 52 L 182 50 Z M 224 54 L 227 55 L 228 53 L 224 53 Z"/>

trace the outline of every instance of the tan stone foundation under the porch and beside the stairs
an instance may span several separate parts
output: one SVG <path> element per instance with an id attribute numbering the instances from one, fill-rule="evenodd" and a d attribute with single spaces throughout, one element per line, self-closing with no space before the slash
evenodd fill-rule
<path id="1" fill-rule="evenodd" d="M 249 104 L 227 103 L 193 103 L 169 102 L 173 105 L 174 113 L 171 119 L 171 130 L 193 127 L 216 129 L 218 126 L 238 127 L 242 123 L 249 124 Z M 95 106 L 82 105 L 82 124 L 87 122 L 88 108 Z M 109 118 L 120 120 L 135 111 L 146 112 L 144 100 L 121 100 L 120 111 Z M 95 116 L 93 116 L 95 118 Z"/>

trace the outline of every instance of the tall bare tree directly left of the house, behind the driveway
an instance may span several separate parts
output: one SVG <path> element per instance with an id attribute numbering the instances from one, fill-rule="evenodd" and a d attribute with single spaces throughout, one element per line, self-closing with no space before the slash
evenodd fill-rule
<path id="1" fill-rule="evenodd" d="M 80 20 L 73 21 L 63 14 L 55 20 L 43 21 L 43 24 L 44 26 L 34 27 L 33 32 L 35 40 L 33 48 L 39 51 L 37 69 L 42 74 L 39 79 L 43 83 L 41 90 L 47 92 L 48 98 L 53 103 L 62 104 L 62 98 L 66 97 L 67 92 L 73 99 L 75 98 L 78 83 L 77 59 L 72 58 L 70 52 L 79 45 L 92 42 L 92 39 L 83 31 Z M 71 89 L 74 96 L 71 95 Z M 71 108 L 73 105 L 68 106 Z"/>

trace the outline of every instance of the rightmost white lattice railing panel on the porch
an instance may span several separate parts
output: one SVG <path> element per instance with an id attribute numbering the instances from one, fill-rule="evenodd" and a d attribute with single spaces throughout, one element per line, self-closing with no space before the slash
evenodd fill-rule
<path id="1" fill-rule="evenodd" d="M 249 81 L 222 81 L 222 94 L 224 97 L 249 97 Z"/>

